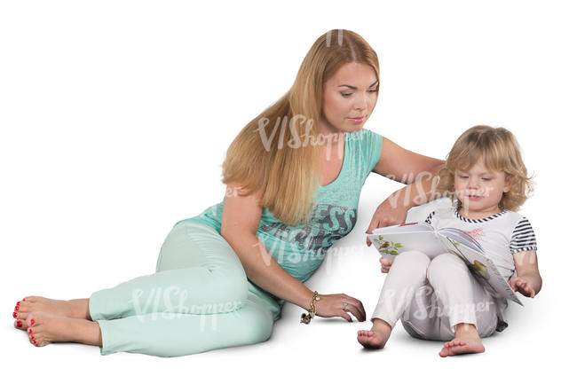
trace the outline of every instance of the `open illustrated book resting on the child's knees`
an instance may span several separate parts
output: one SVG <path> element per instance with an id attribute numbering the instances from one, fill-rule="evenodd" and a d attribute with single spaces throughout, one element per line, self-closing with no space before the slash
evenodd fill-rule
<path id="1" fill-rule="evenodd" d="M 509 282 L 486 257 L 483 247 L 465 231 L 456 228 L 436 231 L 429 223 L 406 223 L 376 228 L 368 234 L 368 239 L 384 258 L 391 260 L 405 251 L 421 251 L 431 259 L 450 252 L 462 259 L 490 294 L 523 305 Z"/>

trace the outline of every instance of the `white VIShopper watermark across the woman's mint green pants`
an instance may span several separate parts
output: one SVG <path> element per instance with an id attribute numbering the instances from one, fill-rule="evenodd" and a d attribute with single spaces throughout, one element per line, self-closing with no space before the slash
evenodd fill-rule
<path id="1" fill-rule="evenodd" d="M 202 302 L 191 305 L 189 292 L 179 286 L 159 286 L 150 289 L 134 289 L 131 293 L 130 303 L 134 308 L 135 315 L 141 323 L 146 320 L 181 318 L 187 315 L 201 315 L 202 329 L 205 316 L 221 313 L 233 313 L 240 310 L 243 302 Z M 213 317 L 213 328 L 215 318 Z"/>

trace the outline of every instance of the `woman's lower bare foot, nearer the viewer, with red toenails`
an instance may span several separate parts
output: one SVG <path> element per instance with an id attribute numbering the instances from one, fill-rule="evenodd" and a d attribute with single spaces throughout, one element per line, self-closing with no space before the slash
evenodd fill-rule
<path id="1" fill-rule="evenodd" d="M 102 346 L 100 326 L 95 321 L 32 312 L 28 315 L 26 323 L 28 340 L 36 347 L 43 347 L 55 341 L 73 341 Z"/>

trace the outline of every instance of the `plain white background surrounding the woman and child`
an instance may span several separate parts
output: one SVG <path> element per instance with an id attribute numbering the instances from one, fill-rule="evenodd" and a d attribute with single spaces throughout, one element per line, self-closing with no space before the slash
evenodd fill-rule
<path id="1" fill-rule="evenodd" d="M 208 2 L 205 2 L 208 3 Z M 570 2 L 3 2 L 0 9 L 3 375 L 14 380 L 546 380 L 574 356 L 573 130 L 577 16 Z M 386 348 L 356 341 L 370 322 L 286 304 L 271 340 L 161 358 L 77 344 L 35 348 L 12 327 L 30 294 L 88 297 L 154 272 L 178 220 L 222 200 L 220 165 L 241 128 L 291 86 L 312 43 L 350 29 L 375 49 L 381 94 L 365 128 L 445 158 L 476 124 L 512 130 L 534 173 L 525 214 L 543 289 L 486 353 L 442 359 L 437 341 L 396 328 Z M 354 230 L 307 281 L 359 298 L 383 277 L 364 232 L 401 185 L 372 174 Z M 571 360 L 570 360 L 571 358 Z"/>

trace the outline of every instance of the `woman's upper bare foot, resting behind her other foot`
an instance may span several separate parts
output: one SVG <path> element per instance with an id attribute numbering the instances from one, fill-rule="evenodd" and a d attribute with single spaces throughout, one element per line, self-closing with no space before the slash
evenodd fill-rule
<path id="1" fill-rule="evenodd" d="M 26 330 L 27 325 L 24 320 L 31 312 L 45 312 L 63 317 L 91 320 L 88 302 L 89 299 L 52 300 L 41 296 L 27 296 L 17 302 L 14 307 L 12 313 L 12 317 L 16 318 L 14 326 Z M 18 326 L 18 320 L 20 320 L 21 326 Z"/>

